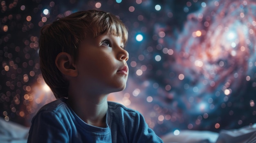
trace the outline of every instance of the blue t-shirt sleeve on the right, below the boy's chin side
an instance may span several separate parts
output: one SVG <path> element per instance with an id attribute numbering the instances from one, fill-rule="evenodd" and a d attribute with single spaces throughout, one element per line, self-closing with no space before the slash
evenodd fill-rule
<path id="1" fill-rule="evenodd" d="M 134 131 L 132 143 L 163 143 L 138 112 L 135 114 Z"/>

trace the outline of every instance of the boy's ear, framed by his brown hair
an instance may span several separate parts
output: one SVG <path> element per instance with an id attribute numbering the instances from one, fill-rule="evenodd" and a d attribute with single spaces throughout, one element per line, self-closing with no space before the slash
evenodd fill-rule
<path id="1" fill-rule="evenodd" d="M 71 55 L 66 52 L 61 52 L 57 55 L 55 64 L 58 70 L 60 70 L 64 75 L 76 77 L 78 74 L 74 60 Z"/>

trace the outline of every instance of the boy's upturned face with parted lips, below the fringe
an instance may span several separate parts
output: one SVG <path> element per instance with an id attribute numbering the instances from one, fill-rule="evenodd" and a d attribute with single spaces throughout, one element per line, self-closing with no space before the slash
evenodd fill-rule
<path id="1" fill-rule="evenodd" d="M 124 90 L 128 78 L 128 52 L 123 47 L 121 37 L 108 34 L 83 40 L 75 63 L 76 85 L 101 94 Z"/>

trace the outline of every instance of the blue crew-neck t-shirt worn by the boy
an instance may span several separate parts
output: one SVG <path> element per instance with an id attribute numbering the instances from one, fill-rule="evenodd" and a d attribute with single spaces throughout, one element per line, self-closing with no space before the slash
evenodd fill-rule
<path id="1" fill-rule="evenodd" d="M 43 106 L 32 119 L 28 143 L 162 143 L 137 111 L 108 101 L 106 128 L 81 120 L 61 98 Z"/>

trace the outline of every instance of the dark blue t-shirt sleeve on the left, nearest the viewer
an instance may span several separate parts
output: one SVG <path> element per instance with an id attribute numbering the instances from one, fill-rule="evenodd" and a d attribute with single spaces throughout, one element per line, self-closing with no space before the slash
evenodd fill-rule
<path id="1" fill-rule="evenodd" d="M 51 111 L 39 112 L 32 121 L 27 143 L 68 143 L 63 117 Z"/>

